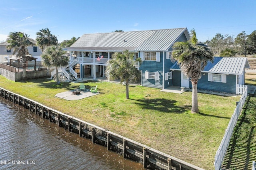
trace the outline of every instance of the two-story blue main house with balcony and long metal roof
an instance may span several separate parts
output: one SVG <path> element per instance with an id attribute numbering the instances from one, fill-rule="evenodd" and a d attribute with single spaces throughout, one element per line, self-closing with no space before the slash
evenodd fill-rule
<path id="1" fill-rule="evenodd" d="M 142 86 L 164 89 L 172 86 L 172 45 L 188 39 L 187 28 L 95 33 L 82 35 L 63 50 L 70 55 L 70 72 L 76 66 L 76 76 L 91 76 L 95 80 L 97 76 L 105 76 L 107 61 L 113 53 L 128 49 L 134 53 L 134 59 L 140 57 L 143 61 L 138 67 Z"/>

